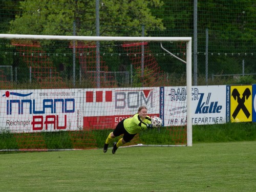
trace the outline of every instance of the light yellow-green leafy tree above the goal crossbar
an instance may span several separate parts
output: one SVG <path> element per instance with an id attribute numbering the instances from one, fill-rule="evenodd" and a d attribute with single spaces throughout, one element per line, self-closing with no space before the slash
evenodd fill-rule
<path id="1" fill-rule="evenodd" d="M 153 16 L 148 8 L 162 5 L 160 0 L 103 0 L 100 35 L 141 36 L 142 25 L 148 30 L 164 30 L 162 19 Z M 20 9 L 20 15 L 10 22 L 12 34 L 72 35 L 75 22 L 77 35 L 96 35 L 95 1 L 26 0 L 20 2 Z"/>

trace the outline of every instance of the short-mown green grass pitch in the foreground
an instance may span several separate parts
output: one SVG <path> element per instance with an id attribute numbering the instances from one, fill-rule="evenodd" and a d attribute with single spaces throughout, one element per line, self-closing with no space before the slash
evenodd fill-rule
<path id="1" fill-rule="evenodd" d="M 0 191 L 256 191 L 256 141 L 0 155 Z"/>

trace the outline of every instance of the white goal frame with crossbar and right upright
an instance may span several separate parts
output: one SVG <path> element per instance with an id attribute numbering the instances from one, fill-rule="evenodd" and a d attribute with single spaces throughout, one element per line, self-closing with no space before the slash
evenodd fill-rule
<path id="1" fill-rule="evenodd" d="M 1 39 L 42 39 L 42 40 L 83 40 L 83 41 L 184 41 L 186 42 L 186 93 L 187 93 L 187 146 L 192 146 L 192 121 L 191 121 L 191 37 L 110 37 L 110 36 L 58 36 L 58 35 L 22 35 L 0 34 Z M 168 52 L 171 54 L 170 52 Z"/>

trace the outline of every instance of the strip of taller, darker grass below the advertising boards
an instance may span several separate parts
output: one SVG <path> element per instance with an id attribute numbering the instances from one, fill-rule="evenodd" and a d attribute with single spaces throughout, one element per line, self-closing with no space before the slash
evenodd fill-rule
<path id="1" fill-rule="evenodd" d="M 176 129 L 177 134 L 169 134 Z M 174 145 L 186 141 L 183 127 L 162 127 L 160 131 L 153 129 L 141 132 L 137 143 Z M 29 148 L 33 144 L 50 150 L 62 148 L 101 148 L 106 137 L 113 130 L 94 130 L 78 132 L 41 132 L 0 134 L 0 150 L 17 150 Z M 27 137 L 26 137 L 27 136 Z M 173 137 L 173 138 L 172 138 Z M 179 138 L 179 139 L 178 139 Z M 115 141 L 118 141 L 117 138 Z M 44 142 L 42 142 L 44 141 Z M 256 141 L 256 123 L 226 123 L 214 125 L 193 125 L 193 143 Z M 74 143 L 81 143 L 80 145 Z M 175 143 L 176 142 L 176 143 Z M 2 152 L 0 152 L 1 154 Z"/>

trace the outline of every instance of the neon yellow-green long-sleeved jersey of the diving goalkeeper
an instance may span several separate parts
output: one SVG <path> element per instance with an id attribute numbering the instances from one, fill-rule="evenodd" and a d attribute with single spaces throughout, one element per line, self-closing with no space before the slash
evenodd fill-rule
<path id="1" fill-rule="evenodd" d="M 135 114 L 132 118 L 127 118 L 123 121 L 124 129 L 130 134 L 137 134 L 146 130 L 147 124 L 151 124 L 151 118 L 146 116 L 142 121 L 139 114 Z"/>

